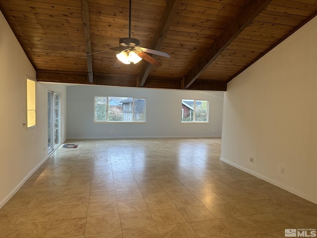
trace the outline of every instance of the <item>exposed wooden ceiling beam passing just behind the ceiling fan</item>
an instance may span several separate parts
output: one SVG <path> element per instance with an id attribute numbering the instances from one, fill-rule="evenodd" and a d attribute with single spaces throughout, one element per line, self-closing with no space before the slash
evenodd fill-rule
<path id="1" fill-rule="evenodd" d="M 152 39 L 150 49 L 158 51 L 163 44 L 165 35 L 169 29 L 169 26 L 176 15 L 176 12 L 181 4 L 182 0 L 167 0 L 163 14 L 159 21 L 159 26 Z M 152 56 L 156 58 L 156 56 Z M 144 62 L 140 72 L 140 86 L 143 87 L 147 77 L 150 73 L 152 65 L 148 62 Z"/>

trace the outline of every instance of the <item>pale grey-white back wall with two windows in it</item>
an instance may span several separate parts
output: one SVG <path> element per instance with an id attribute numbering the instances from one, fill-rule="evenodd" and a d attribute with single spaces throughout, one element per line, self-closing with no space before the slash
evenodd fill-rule
<path id="1" fill-rule="evenodd" d="M 147 123 L 93 123 L 95 96 L 145 97 Z M 181 123 L 182 99 L 209 100 L 209 123 Z M 67 86 L 67 138 L 219 137 L 222 107 L 223 92 Z"/>

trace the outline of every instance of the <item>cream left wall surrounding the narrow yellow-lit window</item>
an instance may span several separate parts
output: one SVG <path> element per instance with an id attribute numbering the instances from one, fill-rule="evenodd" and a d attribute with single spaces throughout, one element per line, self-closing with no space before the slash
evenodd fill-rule
<path id="1" fill-rule="evenodd" d="M 0 29 L 1 208 L 48 158 L 48 126 L 47 89 L 37 83 L 37 126 L 30 130 L 22 127 L 26 121 L 26 75 L 35 78 L 35 70 L 1 13 Z"/>

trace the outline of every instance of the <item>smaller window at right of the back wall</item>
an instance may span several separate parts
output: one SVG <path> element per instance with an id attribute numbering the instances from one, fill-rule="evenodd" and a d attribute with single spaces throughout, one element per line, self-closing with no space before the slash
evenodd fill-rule
<path id="1" fill-rule="evenodd" d="M 209 102 L 207 100 L 182 100 L 182 122 L 208 122 Z"/>

